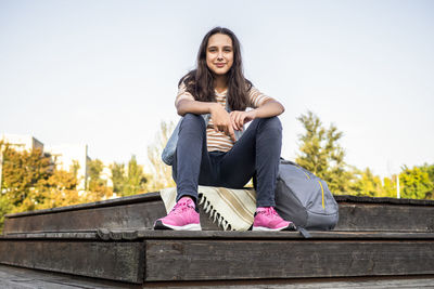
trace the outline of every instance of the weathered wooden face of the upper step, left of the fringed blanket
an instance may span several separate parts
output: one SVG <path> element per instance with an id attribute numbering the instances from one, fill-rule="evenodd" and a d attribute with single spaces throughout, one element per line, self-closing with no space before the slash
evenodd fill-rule
<path id="1" fill-rule="evenodd" d="M 151 194 L 146 194 L 151 195 Z M 88 207 L 79 205 L 76 210 L 74 206 L 67 208 L 55 208 L 43 210 L 43 212 L 29 214 L 21 213 L 9 215 L 5 219 L 3 234 L 37 233 L 37 232 L 71 232 L 71 231 L 97 231 L 99 227 L 106 228 L 141 228 L 152 227 L 155 220 L 166 215 L 166 209 L 159 198 L 159 194 L 152 194 L 149 198 L 128 199 L 116 203 L 103 202 L 101 207 L 91 203 Z M 132 202 L 139 201 L 139 202 Z M 132 203 L 131 203 L 132 202 Z M 101 203 L 100 203 L 101 205 Z M 208 214 L 202 209 L 201 224 L 203 229 L 219 229 Z"/>

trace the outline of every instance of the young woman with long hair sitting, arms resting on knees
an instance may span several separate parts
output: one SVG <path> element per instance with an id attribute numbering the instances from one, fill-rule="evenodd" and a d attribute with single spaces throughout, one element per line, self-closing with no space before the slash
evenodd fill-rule
<path id="1" fill-rule="evenodd" d="M 173 163 L 177 205 L 154 228 L 201 229 L 197 185 L 242 188 L 256 174 L 253 229 L 295 229 L 273 208 L 282 145 L 277 116 L 284 108 L 244 78 L 235 35 L 227 28 L 212 29 L 199 49 L 197 68 L 178 87 L 175 106 L 183 119 Z M 246 111 L 247 107 L 253 109 Z"/>

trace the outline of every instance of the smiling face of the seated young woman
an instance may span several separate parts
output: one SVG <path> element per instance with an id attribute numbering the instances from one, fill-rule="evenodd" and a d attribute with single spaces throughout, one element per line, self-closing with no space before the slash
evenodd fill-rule
<path id="1" fill-rule="evenodd" d="M 233 64 L 232 39 L 222 34 L 209 37 L 206 47 L 206 65 L 217 76 L 226 75 Z"/>

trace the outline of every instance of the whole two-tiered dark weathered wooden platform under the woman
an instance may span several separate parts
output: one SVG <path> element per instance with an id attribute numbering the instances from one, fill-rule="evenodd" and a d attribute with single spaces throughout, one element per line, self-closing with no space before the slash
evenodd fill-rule
<path id="1" fill-rule="evenodd" d="M 332 232 L 152 231 L 157 193 L 9 214 L 0 263 L 131 284 L 434 276 L 434 201 L 336 196 Z"/>

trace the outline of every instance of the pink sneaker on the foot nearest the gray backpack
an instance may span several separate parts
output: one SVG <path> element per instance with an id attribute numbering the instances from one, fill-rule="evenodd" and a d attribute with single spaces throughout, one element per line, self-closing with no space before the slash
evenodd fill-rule
<path id="1" fill-rule="evenodd" d="M 284 221 L 273 207 L 256 209 L 252 231 L 295 231 L 293 222 Z"/>

